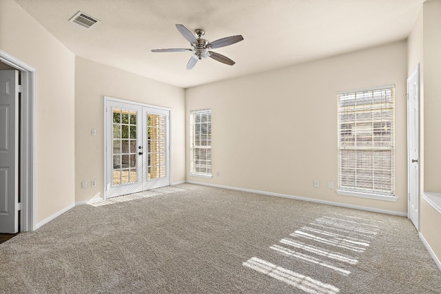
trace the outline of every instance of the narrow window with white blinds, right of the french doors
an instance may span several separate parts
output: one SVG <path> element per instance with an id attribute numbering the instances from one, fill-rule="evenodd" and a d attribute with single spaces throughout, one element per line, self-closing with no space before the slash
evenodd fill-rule
<path id="1" fill-rule="evenodd" d="M 190 112 L 190 174 L 212 178 L 212 111 Z"/>

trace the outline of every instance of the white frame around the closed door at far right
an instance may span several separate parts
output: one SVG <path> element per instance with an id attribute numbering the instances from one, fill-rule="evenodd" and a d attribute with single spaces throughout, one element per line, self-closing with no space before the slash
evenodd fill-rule
<path id="1" fill-rule="evenodd" d="M 418 76 L 418 121 L 417 123 L 417 144 L 418 144 L 418 179 L 417 179 L 417 191 L 418 191 L 418 220 L 416 224 L 417 231 L 420 231 L 420 180 L 421 180 L 421 145 L 420 145 L 420 106 L 421 106 L 421 84 L 420 84 L 420 63 L 416 65 L 415 69 L 411 72 L 411 74 L 407 78 L 407 217 L 411 220 L 411 205 L 410 205 L 410 162 L 411 162 L 411 152 L 409 147 L 409 134 L 410 134 L 410 128 L 409 128 L 409 81 L 413 76 Z M 411 220 L 413 222 L 413 220 Z M 413 223 L 415 225 L 415 223 Z"/>

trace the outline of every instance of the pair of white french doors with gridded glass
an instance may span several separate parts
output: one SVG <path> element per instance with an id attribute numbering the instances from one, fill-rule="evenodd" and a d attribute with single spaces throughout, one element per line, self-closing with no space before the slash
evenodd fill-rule
<path id="1" fill-rule="evenodd" d="M 105 198 L 170 185 L 170 109 L 105 97 Z"/>

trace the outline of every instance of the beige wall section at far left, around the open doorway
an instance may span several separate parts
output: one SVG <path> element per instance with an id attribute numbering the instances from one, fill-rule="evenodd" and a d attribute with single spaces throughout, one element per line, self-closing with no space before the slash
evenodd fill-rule
<path id="1" fill-rule="evenodd" d="M 74 203 L 74 54 L 12 0 L 0 1 L 0 49 L 37 69 L 38 223 Z"/>

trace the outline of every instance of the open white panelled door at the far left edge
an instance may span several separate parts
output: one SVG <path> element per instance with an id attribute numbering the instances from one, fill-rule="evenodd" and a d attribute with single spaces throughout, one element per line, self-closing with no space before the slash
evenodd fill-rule
<path id="1" fill-rule="evenodd" d="M 0 233 L 19 231 L 19 72 L 0 71 Z"/>

